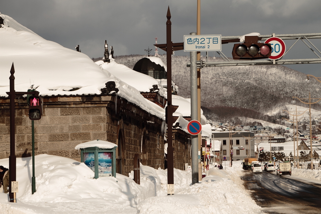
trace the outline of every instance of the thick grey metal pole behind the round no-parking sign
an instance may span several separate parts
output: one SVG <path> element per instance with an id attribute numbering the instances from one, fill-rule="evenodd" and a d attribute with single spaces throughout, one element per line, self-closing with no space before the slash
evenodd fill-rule
<path id="1" fill-rule="evenodd" d="M 195 32 L 190 35 L 196 35 Z M 197 120 L 197 68 L 196 51 L 190 51 L 191 75 L 191 120 Z M 192 184 L 198 183 L 198 136 L 191 135 L 192 144 Z"/>

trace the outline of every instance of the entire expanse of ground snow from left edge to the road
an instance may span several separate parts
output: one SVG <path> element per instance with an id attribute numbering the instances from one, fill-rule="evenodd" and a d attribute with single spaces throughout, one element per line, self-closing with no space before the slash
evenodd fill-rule
<path id="1" fill-rule="evenodd" d="M 8 158 L 0 160 L 4 167 L 8 163 Z M 172 196 L 167 196 L 167 170 L 140 167 L 138 185 L 133 172 L 93 179 L 84 163 L 42 154 L 35 156 L 36 192 L 31 194 L 31 157 L 17 158 L 17 203 L 0 193 L 0 213 L 260 213 L 239 178 L 239 164 L 212 168 L 195 185 L 191 172 L 174 169 Z"/>

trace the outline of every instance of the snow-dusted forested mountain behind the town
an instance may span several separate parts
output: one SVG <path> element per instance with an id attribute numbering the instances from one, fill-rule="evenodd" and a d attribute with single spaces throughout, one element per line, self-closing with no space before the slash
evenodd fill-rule
<path id="1" fill-rule="evenodd" d="M 117 56 L 117 63 L 134 67 L 143 55 Z M 166 55 L 160 58 L 166 62 Z M 202 60 L 205 60 L 202 58 Z M 219 61 L 221 58 L 209 59 Z M 189 56 L 172 56 L 172 79 L 178 85 L 179 96 L 190 97 Z M 242 120 L 242 117 L 275 122 L 292 111 L 288 105 L 292 96 L 321 97 L 321 84 L 306 84 L 306 75 L 280 65 L 204 67 L 201 70 L 201 102 L 204 115 L 213 121 Z M 296 105 L 307 107 L 297 101 Z M 320 104 L 311 105 L 321 110 Z M 319 112 L 320 113 L 320 112 Z M 223 121 L 225 120 L 225 121 Z"/>

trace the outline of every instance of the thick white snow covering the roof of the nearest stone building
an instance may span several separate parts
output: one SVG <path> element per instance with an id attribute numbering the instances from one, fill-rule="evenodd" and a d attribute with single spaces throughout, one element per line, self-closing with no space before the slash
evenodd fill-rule
<path id="1" fill-rule="evenodd" d="M 0 28 L 0 97 L 8 96 L 14 63 L 15 91 L 27 91 L 34 84 L 41 96 L 100 95 L 100 89 L 114 81 L 119 90 L 117 96 L 163 118 L 136 88 L 95 64 L 87 55 L 45 40 L 9 16 L 2 17 L 5 26 Z M 109 69 L 125 73 L 129 68 L 113 62 Z M 75 88 L 79 89 L 71 91 Z"/>

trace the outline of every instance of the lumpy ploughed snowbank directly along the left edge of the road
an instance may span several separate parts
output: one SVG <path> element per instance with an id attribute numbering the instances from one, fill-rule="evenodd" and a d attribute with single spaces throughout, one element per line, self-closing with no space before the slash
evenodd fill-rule
<path id="1" fill-rule="evenodd" d="M 137 206 L 141 214 L 167 213 L 260 213 L 239 178 L 240 162 L 226 170 L 209 170 L 203 181 L 171 196 L 152 197 Z"/>

